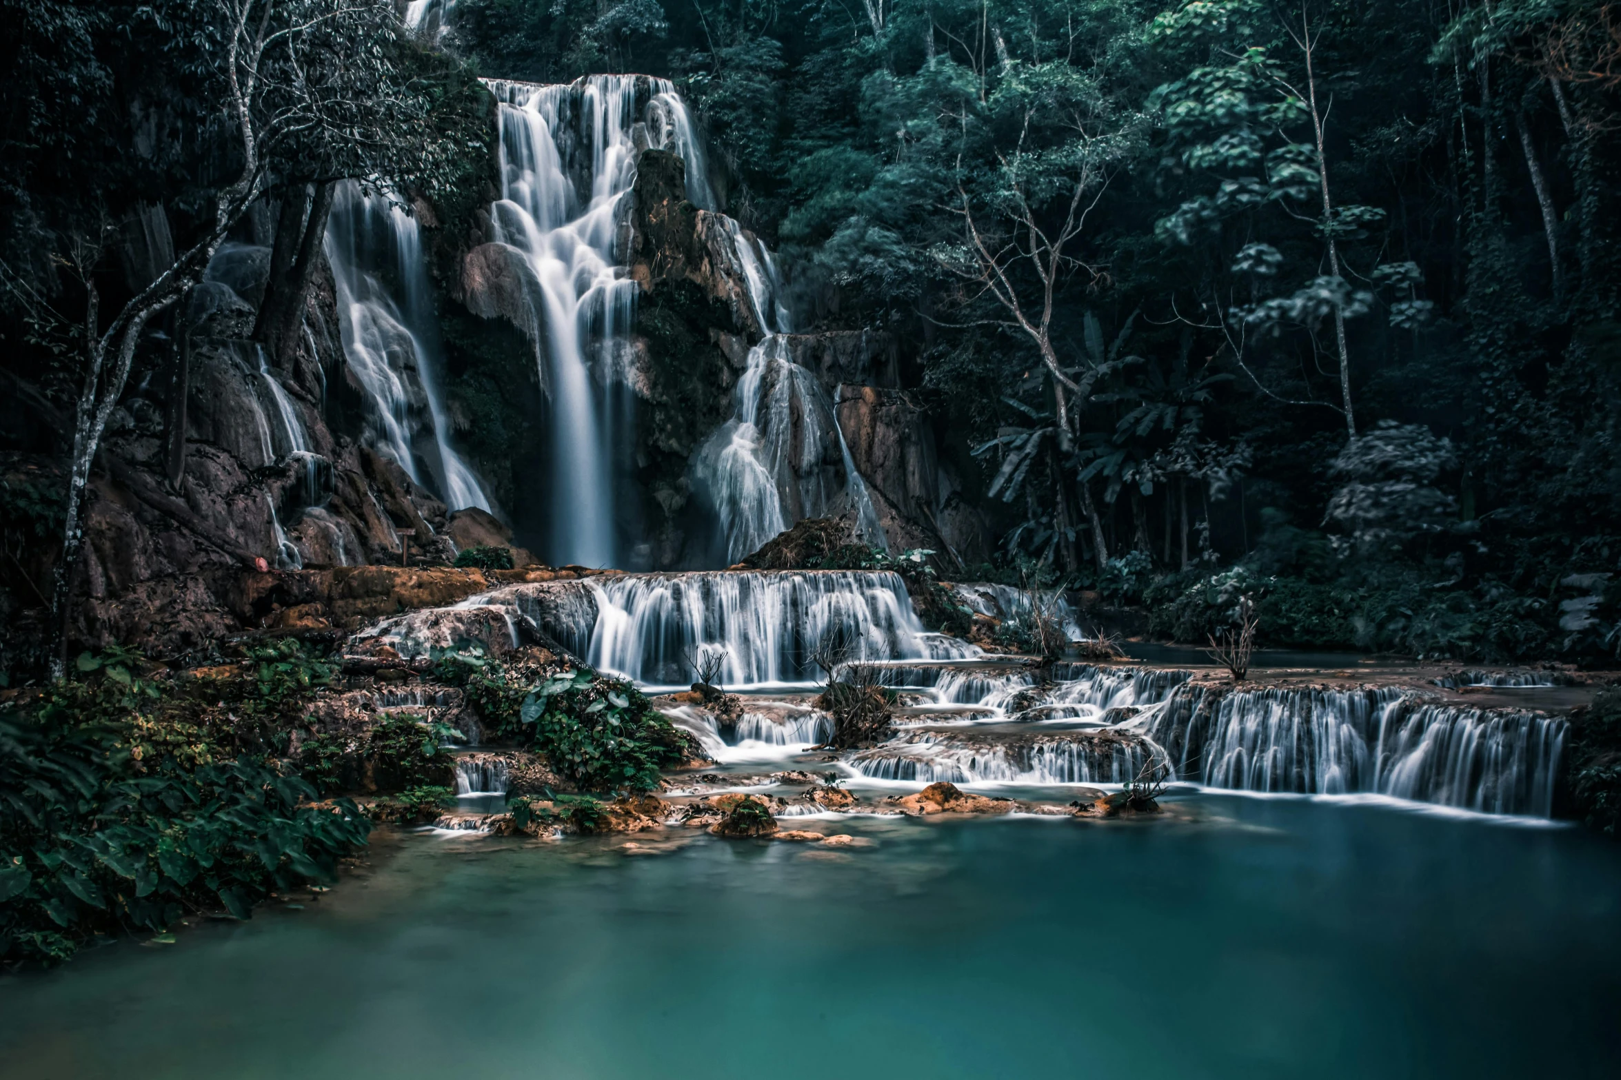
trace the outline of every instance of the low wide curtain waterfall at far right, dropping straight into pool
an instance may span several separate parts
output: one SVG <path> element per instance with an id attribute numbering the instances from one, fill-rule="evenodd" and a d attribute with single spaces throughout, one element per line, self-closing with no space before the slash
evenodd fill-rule
<path id="1" fill-rule="evenodd" d="M 1182 779 L 1250 792 L 1368 792 L 1553 813 L 1568 722 L 1399 690 L 1178 690 L 1146 725 Z"/>

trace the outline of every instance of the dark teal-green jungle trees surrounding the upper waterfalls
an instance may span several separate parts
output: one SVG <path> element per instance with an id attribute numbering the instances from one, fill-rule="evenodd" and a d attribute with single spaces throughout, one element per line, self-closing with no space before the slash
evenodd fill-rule
<path id="1" fill-rule="evenodd" d="M 430 6 L 407 32 L 259 5 L 248 65 L 222 55 L 251 3 L 6 0 L 5 368 L 73 413 L 88 343 L 126 303 L 159 319 L 263 193 L 361 178 L 456 220 L 491 168 L 477 78 L 640 71 L 694 104 L 806 321 L 901 343 L 995 541 L 942 572 L 1097 588 L 1195 641 L 1253 594 L 1272 644 L 1621 649 L 1621 5 Z M 112 236 L 157 199 L 198 248 L 148 296 Z M 491 452 L 496 398 L 465 397 Z M 5 497 L 34 602 L 58 491 Z"/>

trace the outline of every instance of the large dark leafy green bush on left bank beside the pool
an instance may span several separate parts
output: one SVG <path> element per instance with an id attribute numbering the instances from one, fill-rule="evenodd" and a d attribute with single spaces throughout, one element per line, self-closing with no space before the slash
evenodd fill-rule
<path id="1" fill-rule="evenodd" d="M 0 960 L 58 962 L 203 910 L 248 918 L 365 844 L 353 803 L 313 806 L 298 776 L 225 758 L 164 709 L 167 687 L 123 662 L 79 667 L 96 677 L 0 711 Z"/>

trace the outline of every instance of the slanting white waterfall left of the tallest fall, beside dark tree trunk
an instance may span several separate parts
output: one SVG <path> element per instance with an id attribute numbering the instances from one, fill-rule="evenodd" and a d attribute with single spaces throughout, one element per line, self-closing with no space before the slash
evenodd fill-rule
<path id="1" fill-rule="evenodd" d="M 452 510 L 490 497 L 449 444 L 439 322 L 417 219 L 386 193 L 339 185 L 326 228 L 344 358 L 368 400 L 371 439 Z"/>

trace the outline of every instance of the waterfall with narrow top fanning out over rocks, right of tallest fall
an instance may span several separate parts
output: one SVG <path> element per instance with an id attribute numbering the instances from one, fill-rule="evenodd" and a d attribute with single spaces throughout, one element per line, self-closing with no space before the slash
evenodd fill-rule
<path id="1" fill-rule="evenodd" d="M 789 313 L 770 251 L 723 219 L 736 269 L 765 338 L 749 350 L 733 392 L 733 415 L 692 460 L 692 479 L 708 494 L 734 563 L 794 521 L 828 517 L 843 495 L 859 531 L 887 547 L 867 484 L 838 426 L 833 400 L 793 361 Z M 838 468 L 830 470 L 836 445 Z"/>

